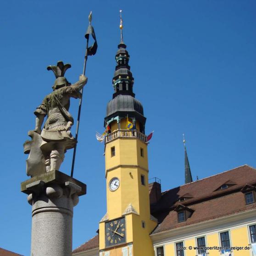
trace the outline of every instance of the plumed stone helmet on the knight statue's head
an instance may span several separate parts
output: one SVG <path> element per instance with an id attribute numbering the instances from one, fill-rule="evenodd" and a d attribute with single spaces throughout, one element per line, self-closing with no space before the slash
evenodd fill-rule
<path id="1" fill-rule="evenodd" d="M 56 80 L 52 86 L 53 90 L 59 89 L 63 86 L 69 86 L 71 83 L 67 81 L 67 79 L 64 77 L 65 72 L 68 68 L 70 68 L 70 64 L 65 64 L 63 61 L 58 61 L 57 66 L 48 66 L 47 70 L 52 70 L 55 74 Z"/>

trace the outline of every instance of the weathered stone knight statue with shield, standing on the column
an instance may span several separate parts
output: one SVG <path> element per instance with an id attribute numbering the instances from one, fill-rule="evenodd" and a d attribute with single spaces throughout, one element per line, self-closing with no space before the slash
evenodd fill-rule
<path id="1" fill-rule="evenodd" d="M 80 90 L 87 83 L 87 78 L 80 75 L 77 83 L 71 84 L 64 77 L 70 64 L 57 62 L 57 66 L 49 66 L 56 76 L 53 92 L 45 96 L 34 114 L 36 124 L 28 135 L 32 138 L 24 143 L 24 153 L 28 154 L 27 174 L 34 176 L 40 173 L 59 170 L 68 149 L 74 148 L 77 141 L 71 134 L 73 118 L 68 112 L 70 98 L 81 98 Z M 42 128 L 45 117 L 45 125 Z M 38 136 L 37 134 L 40 134 Z"/>

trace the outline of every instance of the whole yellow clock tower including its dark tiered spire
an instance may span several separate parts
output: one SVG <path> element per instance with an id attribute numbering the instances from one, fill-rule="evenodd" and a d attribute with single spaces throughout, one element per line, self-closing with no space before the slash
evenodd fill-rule
<path id="1" fill-rule="evenodd" d="M 121 14 L 121 11 L 120 11 Z M 100 256 L 154 256 L 150 233 L 148 154 L 143 106 L 134 98 L 134 78 L 122 38 L 105 127 L 107 212 L 100 220 Z"/>

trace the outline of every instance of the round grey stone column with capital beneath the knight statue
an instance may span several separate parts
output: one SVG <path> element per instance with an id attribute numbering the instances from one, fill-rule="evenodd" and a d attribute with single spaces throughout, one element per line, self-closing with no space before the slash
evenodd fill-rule
<path id="1" fill-rule="evenodd" d="M 59 171 L 21 184 L 32 205 L 31 256 L 71 256 L 73 206 L 86 185 Z"/>

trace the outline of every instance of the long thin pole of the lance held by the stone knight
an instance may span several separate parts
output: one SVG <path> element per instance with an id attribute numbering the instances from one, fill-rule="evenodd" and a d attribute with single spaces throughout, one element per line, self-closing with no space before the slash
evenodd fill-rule
<path id="1" fill-rule="evenodd" d="M 90 14 L 89 14 L 89 25 L 91 24 L 91 21 L 92 21 L 92 12 L 90 12 Z M 89 36 L 86 39 L 85 56 L 84 56 L 84 62 L 83 62 L 83 75 L 85 75 L 86 63 L 87 63 L 87 58 L 88 58 L 88 44 L 89 44 Z M 81 89 L 81 98 L 79 100 L 79 107 L 78 107 L 78 120 L 77 120 L 77 129 L 76 129 L 76 137 L 75 137 L 76 140 L 78 139 L 78 130 L 79 130 L 82 100 L 83 100 L 83 88 Z M 75 145 L 74 152 L 73 152 L 71 175 L 70 175 L 71 177 L 73 177 L 73 173 L 74 173 L 76 151 L 77 151 L 77 144 Z"/>

